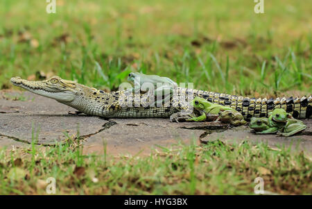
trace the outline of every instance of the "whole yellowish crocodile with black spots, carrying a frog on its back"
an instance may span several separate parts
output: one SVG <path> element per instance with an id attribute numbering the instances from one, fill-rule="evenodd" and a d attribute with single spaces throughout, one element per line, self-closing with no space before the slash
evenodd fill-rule
<path id="1" fill-rule="evenodd" d="M 275 108 L 282 108 L 295 118 L 311 118 L 312 96 L 288 99 L 256 99 L 235 95 L 207 92 L 185 87 L 175 87 L 173 97 L 159 106 L 153 106 L 154 97 L 148 94 L 133 94 L 127 90 L 104 92 L 75 81 L 53 76 L 45 81 L 27 81 L 19 77 L 10 79 L 13 85 L 35 94 L 55 99 L 87 115 L 106 118 L 173 117 L 183 111 L 193 111 L 189 101 L 201 97 L 241 112 L 245 119 L 268 117 Z M 127 93 L 128 92 L 128 93 Z"/>

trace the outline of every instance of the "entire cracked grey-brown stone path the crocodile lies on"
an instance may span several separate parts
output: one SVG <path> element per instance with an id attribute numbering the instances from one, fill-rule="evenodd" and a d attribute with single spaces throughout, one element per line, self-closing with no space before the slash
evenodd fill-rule
<path id="1" fill-rule="evenodd" d="M 312 119 L 305 119 L 306 130 L 301 135 L 255 135 L 250 128 L 230 128 L 216 122 L 171 123 L 169 119 L 110 119 L 87 115 L 70 115 L 76 110 L 53 99 L 31 92 L 0 91 L 0 147 L 24 147 L 37 138 L 37 144 L 54 144 L 66 135 L 84 138 L 83 152 L 108 154 L 148 154 L 174 144 L 207 143 L 212 140 L 257 144 L 267 142 L 272 147 L 296 145 L 312 152 Z M 34 133 L 34 134 L 33 134 Z M 36 137 L 37 135 L 37 137 Z M 160 147 L 159 147 L 160 146 Z"/>

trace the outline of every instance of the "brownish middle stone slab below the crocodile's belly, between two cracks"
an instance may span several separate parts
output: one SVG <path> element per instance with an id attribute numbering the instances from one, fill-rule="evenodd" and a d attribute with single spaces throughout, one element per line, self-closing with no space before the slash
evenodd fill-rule
<path id="1" fill-rule="evenodd" d="M 101 133 L 92 135 L 85 142 L 85 153 L 103 153 L 103 142 L 107 144 L 107 153 L 136 155 L 148 154 L 158 147 L 171 147 L 174 144 L 199 143 L 199 137 L 205 131 L 188 130 L 185 124 L 173 124 L 168 119 L 112 119 L 116 124 Z M 192 125 L 192 127 L 194 124 Z M 157 146 L 158 145 L 158 146 Z"/>

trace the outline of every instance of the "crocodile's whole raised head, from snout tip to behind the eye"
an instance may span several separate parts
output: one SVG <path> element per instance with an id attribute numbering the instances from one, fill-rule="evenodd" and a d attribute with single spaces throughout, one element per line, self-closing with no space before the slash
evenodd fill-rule
<path id="1" fill-rule="evenodd" d="M 27 81 L 19 77 L 11 78 L 11 83 L 25 90 L 49 97 L 60 102 L 71 102 L 80 92 L 78 84 L 53 76 L 46 81 Z"/>

